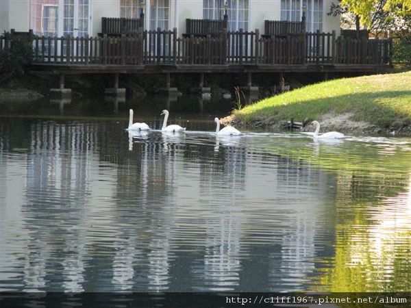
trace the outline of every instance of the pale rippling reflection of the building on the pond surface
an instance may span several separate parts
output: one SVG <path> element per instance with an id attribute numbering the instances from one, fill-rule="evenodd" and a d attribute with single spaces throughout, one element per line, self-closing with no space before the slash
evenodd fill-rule
<path id="1" fill-rule="evenodd" d="M 332 178 L 247 140 L 75 121 L 27 138 L 16 290 L 299 290 L 332 228 Z"/>

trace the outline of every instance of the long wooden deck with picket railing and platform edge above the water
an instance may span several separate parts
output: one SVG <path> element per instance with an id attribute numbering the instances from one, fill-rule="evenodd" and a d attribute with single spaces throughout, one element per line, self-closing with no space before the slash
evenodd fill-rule
<path id="1" fill-rule="evenodd" d="M 0 49 L 10 42 L 0 38 Z M 221 31 L 177 37 L 177 29 L 120 37 L 37 37 L 36 73 L 379 72 L 391 66 L 392 41 L 336 37 L 335 32 L 261 36 Z"/>

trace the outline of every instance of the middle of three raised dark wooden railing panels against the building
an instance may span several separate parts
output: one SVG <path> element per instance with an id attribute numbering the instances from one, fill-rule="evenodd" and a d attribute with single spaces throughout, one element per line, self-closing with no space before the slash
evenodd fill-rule
<path id="1" fill-rule="evenodd" d="M 223 20 L 212 19 L 186 19 L 186 33 L 184 37 L 208 35 L 216 36 L 221 34 L 223 29 L 227 30 L 227 16 Z"/>

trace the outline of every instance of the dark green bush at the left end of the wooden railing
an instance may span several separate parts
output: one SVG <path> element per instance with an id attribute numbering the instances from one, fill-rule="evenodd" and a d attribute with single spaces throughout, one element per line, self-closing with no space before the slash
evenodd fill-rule
<path id="1" fill-rule="evenodd" d="M 24 75 L 33 60 L 32 34 L 10 34 L 5 32 L 5 48 L 0 51 L 0 82 Z"/>

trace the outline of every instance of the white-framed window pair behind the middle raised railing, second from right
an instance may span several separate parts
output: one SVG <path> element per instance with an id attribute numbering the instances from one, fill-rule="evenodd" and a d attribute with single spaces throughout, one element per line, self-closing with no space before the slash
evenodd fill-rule
<path id="1" fill-rule="evenodd" d="M 227 0 L 228 30 L 249 28 L 249 0 Z M 223 19 L 224 0 L 203 0 L 203 18 Z"/>

